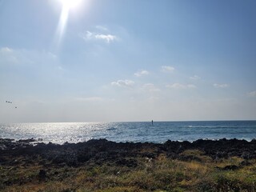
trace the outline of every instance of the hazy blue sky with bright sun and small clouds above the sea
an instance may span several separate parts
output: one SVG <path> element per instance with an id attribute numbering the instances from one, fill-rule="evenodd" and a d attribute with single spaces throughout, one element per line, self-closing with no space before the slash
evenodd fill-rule
<path id="1" fill-rule="evenodd" d="M 255 9 L 0 0 L 0 122 L 255 120 Z"/>

